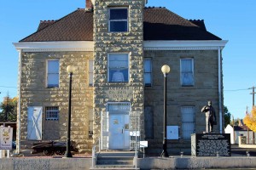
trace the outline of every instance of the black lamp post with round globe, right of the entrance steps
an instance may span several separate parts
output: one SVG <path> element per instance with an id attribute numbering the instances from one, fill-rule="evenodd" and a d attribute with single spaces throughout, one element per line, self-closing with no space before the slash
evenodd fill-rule
<path id="1" fill-rule="evenodd" d="M 171 71 L 170 67 L 168 65 L 163 65 L 161 68 L 161 71 L 164 74 L 164 132 L 163 132 L 163 151 L 161 153 L 161 156 L 168 157 L 167 152 L 167 139 L 166 139 L 166 122 L 167 122 L 167 111 L 166 111 L 166 100 L 167 100 L 167 93 L 166 93 L 166 75 Z"/>

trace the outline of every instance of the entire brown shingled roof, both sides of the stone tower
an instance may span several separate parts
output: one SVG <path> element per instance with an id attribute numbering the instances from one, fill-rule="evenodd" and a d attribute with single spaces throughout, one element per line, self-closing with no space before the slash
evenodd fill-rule
<path id="1" fill-rule="evenodd" d="M 166 8 L 144 8 L 144 40 L 221 40 Z M 93 41 L 93 12 L 77 9 L 60 20 L 41 21 L 38 31 L 20 42 Z"/>

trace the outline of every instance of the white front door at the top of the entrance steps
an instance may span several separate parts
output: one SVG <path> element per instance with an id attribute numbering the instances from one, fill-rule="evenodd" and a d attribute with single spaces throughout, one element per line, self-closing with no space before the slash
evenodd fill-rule
<path id="1" fill-rule="evenodd" d="M 118 150 L 125 147 L 125 115 L 109 115 L 109 149 Z"/>

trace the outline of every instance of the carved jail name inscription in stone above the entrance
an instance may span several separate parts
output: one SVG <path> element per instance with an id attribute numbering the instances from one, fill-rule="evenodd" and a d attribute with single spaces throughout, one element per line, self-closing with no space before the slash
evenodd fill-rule
<path id="1" fill-rule="evenodd" d="M 105 94 L 110 99 L 131 99 L 133 94 L 132 87 L 109 87 Z"/>

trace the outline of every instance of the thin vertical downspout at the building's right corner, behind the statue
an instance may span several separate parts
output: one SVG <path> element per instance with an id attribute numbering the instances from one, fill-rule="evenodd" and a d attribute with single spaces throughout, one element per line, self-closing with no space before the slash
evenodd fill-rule
<path id="1" fill-rule="evenodd" d="M 219 113 L 219 133 L 222 133 L 222 107 L 223 107 L 223 102 L 222 102 L 222 78 L 221 78 L 221 72 L 222 66 L 221 66 L 221 52 L 220 52 L 220 47 L 218 47 L 218 113 Z"/>

